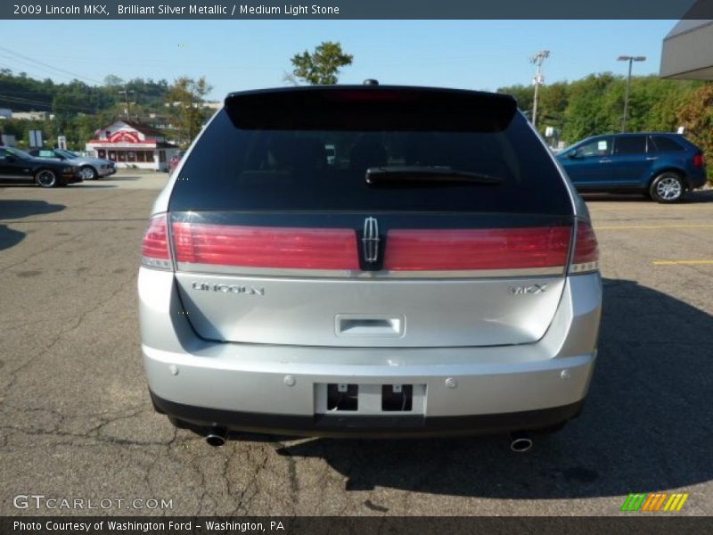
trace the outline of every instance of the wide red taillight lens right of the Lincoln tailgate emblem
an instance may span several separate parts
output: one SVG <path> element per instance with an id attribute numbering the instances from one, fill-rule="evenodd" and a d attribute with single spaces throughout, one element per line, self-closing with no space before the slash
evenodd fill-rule
<path id="1" fill-rule="evenodd" d="M 384 268 L 393 271 L 554 268 L 567 263 L 571 228 L 392 230 Z"/>

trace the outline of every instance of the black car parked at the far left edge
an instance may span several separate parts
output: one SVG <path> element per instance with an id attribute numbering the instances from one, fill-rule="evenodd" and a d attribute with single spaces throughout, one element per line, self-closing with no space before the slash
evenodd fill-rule
<path id="1" fill-rule="evenodd" d="M 0 180 L 35 182 L 42 187 L 54 187 L 82 182 L 82 175 L 78 166 L 65 161 L 33 158 L 27 152 L 0 147 Z"/>

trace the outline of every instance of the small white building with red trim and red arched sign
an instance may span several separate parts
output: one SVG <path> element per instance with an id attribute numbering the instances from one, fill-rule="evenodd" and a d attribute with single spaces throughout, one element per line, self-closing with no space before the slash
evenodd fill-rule
<path id="1" fill-rule="evenodd" d="M 168 171 L 168 161 L 178 152 L 160 130 L 130 120 L 118 120 L 94 134 L 86 152 L 116 161 L 118 168 Z"/>

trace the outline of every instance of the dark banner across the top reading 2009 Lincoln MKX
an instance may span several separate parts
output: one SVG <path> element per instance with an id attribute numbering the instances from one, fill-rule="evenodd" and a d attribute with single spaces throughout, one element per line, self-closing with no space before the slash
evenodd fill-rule
<path id="1" fill-rule="evenodd" d="M 210 0 L 208 0 L 209 2 Z M 5 20 L 147 19 L 692 19 L 713 20 L 713 0 L 76 0 L 0 2 Z"/>

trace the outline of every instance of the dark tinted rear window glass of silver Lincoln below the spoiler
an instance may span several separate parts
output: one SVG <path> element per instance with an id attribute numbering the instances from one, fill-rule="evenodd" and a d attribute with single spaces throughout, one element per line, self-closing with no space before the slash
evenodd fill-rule
<path id="1" fill-rule="evenodd" d="M 417 119 L 391 126 L 393 118 L 372 124 L 362 117 L 359 128 L 349 129 L 347 121 L 322 129 L 310 118 L 306 129 L 299 117 L 285 117 L 277 124 L 271 118 L 269 128 L 239 128 L 224 109 L 186 159 L 169 209 L 572 213 L 551 155 L 520 113 L 497 131 L 479 128 L 478 117 L 471 131 L 439 130 L 434 118 L 421 129 Z M 366 169 L 380 166 L 443 167 L 502 183 L 367 185 Z"/>

